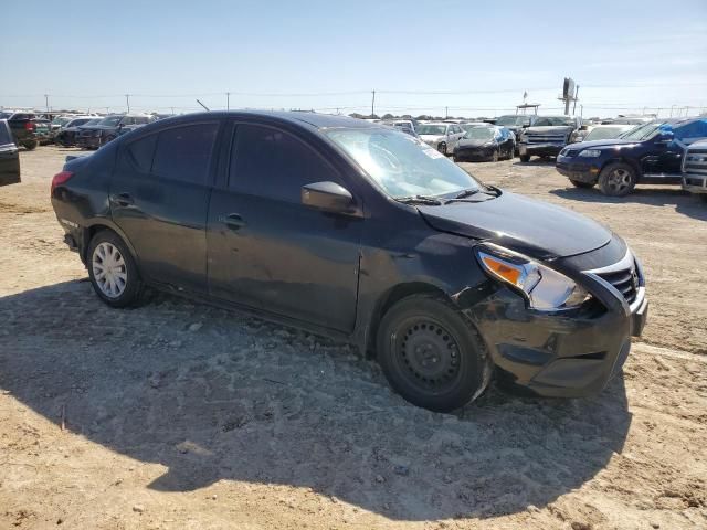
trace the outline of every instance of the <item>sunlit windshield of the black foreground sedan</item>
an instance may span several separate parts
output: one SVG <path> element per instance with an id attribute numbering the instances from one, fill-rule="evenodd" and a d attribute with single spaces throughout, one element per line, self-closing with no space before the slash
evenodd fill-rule
<path id="1" fill-rule="evenodd" d="M 327 136 L 393 198 L 479 190 L 471 174 L 415 138 L 387 129 L 331 129 Z"/>

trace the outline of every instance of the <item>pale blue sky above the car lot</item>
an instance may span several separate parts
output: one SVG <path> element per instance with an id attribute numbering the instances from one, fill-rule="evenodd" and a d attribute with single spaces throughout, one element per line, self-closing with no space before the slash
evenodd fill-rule
<path id="1" fill-rule="evenodd" d="M 231 108 L 348 114 L 370 112 L 374 88 L 378 114 L 488 116 L 524 91 L 550 113 L 571 76 L 584 116 L 707 108 L 700 0 L 30 3 L 2 10 L 6 107 L 50 94 L 124 110 L 129 93 L 134 109 L 189 110 L 231 92 Z"/>

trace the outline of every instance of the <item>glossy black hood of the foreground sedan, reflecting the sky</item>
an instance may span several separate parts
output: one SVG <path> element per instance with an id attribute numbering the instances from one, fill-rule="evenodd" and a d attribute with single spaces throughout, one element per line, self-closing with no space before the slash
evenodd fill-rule
<path id="1" fill-rule="evenodd" d="M 537 259 L 583 254 L 612 236 L 571 210 L 506 191 L 488 201 L 418 206 L 418 211 L 436 230 L 490 241 Z"/>

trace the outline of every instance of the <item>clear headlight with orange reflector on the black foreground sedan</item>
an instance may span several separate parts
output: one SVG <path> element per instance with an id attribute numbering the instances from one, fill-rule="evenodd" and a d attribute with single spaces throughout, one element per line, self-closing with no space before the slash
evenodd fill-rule
<path id="1" fill-rule="evenodd" d="M 507 248 L 488 245 L 477 250 L 476 256 L 489 276 L 518 290 L 534 309 L 572 309 L 591 296 L 563 274 Z"/>

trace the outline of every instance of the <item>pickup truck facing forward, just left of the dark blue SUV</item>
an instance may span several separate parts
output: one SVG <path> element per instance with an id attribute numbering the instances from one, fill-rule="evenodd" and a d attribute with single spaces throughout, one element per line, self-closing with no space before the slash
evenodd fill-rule
<path id="1" fill-rule="evenodd" d="M 535 123 L 520 134 L 520 161 L 527 162 L 532 156 L 557 157 L 580 127 L 581 118 L 577 116 L 536 116 Z"/>

